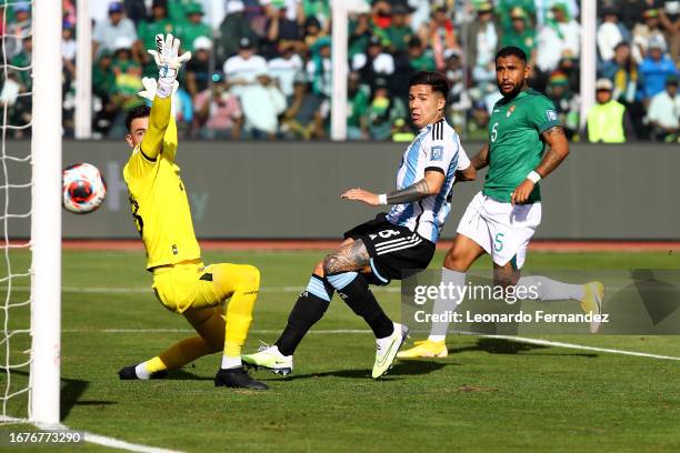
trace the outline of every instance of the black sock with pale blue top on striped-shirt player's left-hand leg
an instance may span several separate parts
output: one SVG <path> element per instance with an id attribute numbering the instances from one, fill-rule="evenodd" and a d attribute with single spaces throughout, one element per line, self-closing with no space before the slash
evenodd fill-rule
<path id="1" fill-rule="evenodd" d="M 296 352 L 307 332 L 323 318 L 333 292 L 333 286 L 324 278 L 312 274 L 288 316 L 288 325 L 274 343 L 281 354 L 292 355 Z"/>

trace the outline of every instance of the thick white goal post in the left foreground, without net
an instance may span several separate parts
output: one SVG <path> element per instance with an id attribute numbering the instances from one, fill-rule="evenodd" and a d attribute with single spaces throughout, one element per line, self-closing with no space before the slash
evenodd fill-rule
<path id="1" fill-rule="evenodd" d="M 61 1 L 33 2 L 29 420 L 59 423 L 61 356 Z"/>

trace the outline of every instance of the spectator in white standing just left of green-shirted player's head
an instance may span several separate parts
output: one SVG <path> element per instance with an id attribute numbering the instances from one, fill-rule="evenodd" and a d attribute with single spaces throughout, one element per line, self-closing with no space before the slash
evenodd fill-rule
<path id="1" fill-rule="evenodd" d="M 467 61 L 472 67 L 476 84 L 496 82 L 496 62 L 500 30 L 493 20 L 493 4 L 490 1 L 477 8 L 477 21 L 468 27 Z"/>

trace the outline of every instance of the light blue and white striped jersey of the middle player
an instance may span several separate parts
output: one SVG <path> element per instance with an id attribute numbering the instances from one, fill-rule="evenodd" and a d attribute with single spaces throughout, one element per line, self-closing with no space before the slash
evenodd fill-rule
<path id="1" fill-rule="evenodd" d="M 451 211 L 451 190 L 456 170 L 464 170 L 469 165 L 470 159 L 453 128 L 443 119 L 426 125 L 403 153 L 397 172 L 397 189 L 414 184 L 424 178 L 427 171 L 443 173 L 444 183 L 436 195 L 413 203 L 393 205 L 387 220 L 407 226 L 431 242 L 437 242 L 447 215 Z"/>

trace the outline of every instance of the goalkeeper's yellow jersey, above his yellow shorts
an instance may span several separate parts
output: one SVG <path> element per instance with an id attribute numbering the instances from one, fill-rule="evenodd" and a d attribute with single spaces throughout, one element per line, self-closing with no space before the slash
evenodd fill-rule
<path id="1" fill-rule="evenodd" d="M 153 130 L 149 128 L 147 133 Z M 147 248 L 149 270 L 201 255 L 180 168 L 174 163 L 177 125 L 173 120 L 168 124 L 162 143 L 156 159 L 144 155 L 137 145 L 123 169 L 132 218 Z"/>

